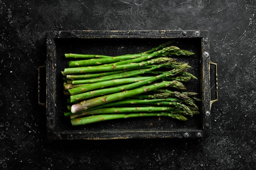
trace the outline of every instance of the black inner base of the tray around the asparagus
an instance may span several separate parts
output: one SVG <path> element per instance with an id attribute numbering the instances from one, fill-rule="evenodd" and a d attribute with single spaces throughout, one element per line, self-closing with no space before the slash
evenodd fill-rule
<path id="1" fill-rule="evenodd" d="M 177 56 L 177 61 L 189 63 L 192 68 L 188 69 L 198 77 L 198 81 L 191 80 L 184 83 L 187 90 L 197 92 L 198 98 L 202 98 L 202 38 L 58 38 L 56 46 L 56 100 L 55 103 L 55 130 L 58 132 L 137 132 L 137 131 L 184 131 L 202 130 L 202 115 L 193 116 L 186 122 L 166 117 L 129 118 L 111 121 L 103 121 L 83 126 L 72 126 L 69 117 L 64 116 L 67 96 L 63 94 L 63 76 L 61 71 L 67 67 L 70 60 L 64 57 L 65 53 L 79 54 L 102 54 L 117 56 L 122 54 L 139 53 L 149 50 L 169 40 L 175 40 L 172 44 L 184 50 L 195 52 L 190 57 Z M 202 112 L 202 103 L 198 103 Z"/>

